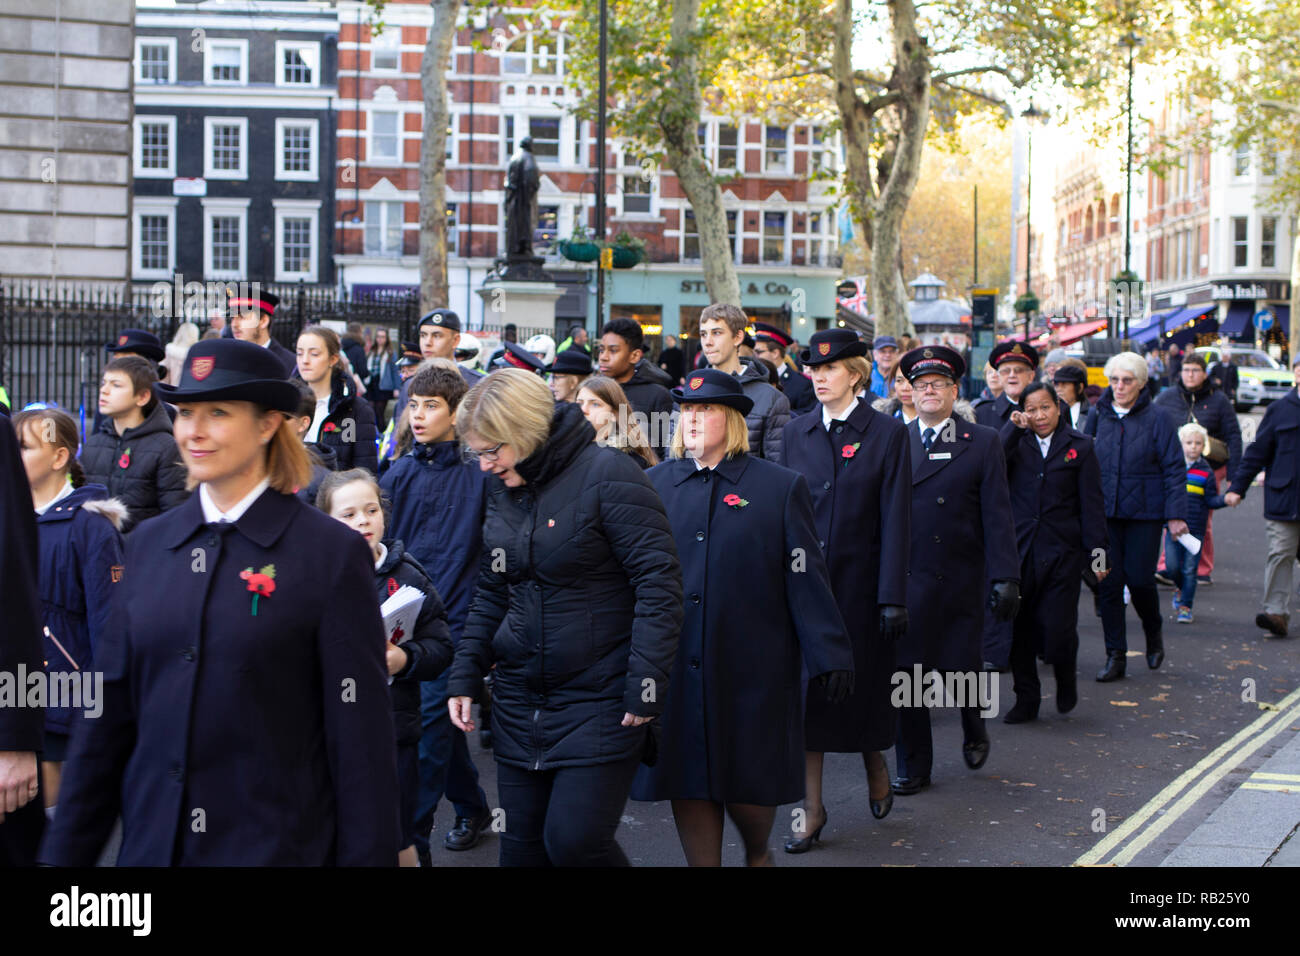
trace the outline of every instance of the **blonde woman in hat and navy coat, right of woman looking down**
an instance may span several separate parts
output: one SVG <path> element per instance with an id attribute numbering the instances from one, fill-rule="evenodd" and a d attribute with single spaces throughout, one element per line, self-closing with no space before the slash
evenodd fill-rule
<path id="1" fill-rule="evenodd" d="M 632 796 L 672 800 L 692 866 L 722 864 L 724 810 L 746 862 L 770 865 L 776 808 L 803 795 L 801 661 L 814 679 L 809 700 L 838 705 L 853 685 L 853 648 L 807 484 L 748 454 L 751 401 L 740 382 L 690 372 L 673 398 L 676 460 L 651 468 L 650 480 L 681 555 L 686 620 L 659 760 L 640 771 Z"/>

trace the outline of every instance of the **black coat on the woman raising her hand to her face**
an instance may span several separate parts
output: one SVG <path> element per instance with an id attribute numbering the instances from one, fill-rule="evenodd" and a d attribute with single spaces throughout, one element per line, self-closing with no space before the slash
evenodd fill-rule
<path id="1" fill-rule="evenodd" d="M 1020 555 L 1020 613 L 1048 661 L 1065 661 L 1079 620 L 1086 568 L 1109 567 L 1101 467 L 1089 438 L 1061 419 L 1046 458 L 1034 432 L 1002 428 L 1015 546 Z"/>

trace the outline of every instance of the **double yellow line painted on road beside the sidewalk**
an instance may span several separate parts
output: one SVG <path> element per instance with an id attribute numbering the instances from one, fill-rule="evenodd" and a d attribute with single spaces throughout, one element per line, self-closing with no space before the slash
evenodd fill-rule
<path id="1" fill-rule="evenodd" d="M 1300 721 L 1300 688 L 1288 693 L 1275 709 L 1261 714 L 1254 722 L 1234 734 L 1231 739 L 1216 747 L 1195 766 L 1179 774 L 1178 779 L 1106 834 L 1097 842 L 1096 847 L 1075 860 L 1074 865 L 1127 866 L 1156 838 L 1187 813 L 1197 800 L 1205 796 L 1216 783 L 1295 721 Z M 1242 788 L 1300 792 L 1300 775 L 1254 774 L 1247 783 L 1242 784 Z"/>

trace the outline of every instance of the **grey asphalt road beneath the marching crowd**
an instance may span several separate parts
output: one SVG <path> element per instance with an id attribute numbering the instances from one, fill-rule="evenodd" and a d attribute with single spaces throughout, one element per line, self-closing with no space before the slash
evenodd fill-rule
<path id="1" fill-rule="evenodd" d="M 1257 419 L 1258 416 L 1242 416 Z M 1245 424 L 1245 423 L 1244 423 Z M 1251 421 L 1249 424 L 1254 424 Z M 1214 584 L 1196 596 L 1196 622 L 1175 624 L 1170 589 L 1161 588 L 1166 615 L 1166 661 L 1150 671 L 1141 657 L 1136 613 L 1128 611 L 1128 675 L 1098 684 L 1092 678 L 1105 653 L 1092 596 L 1079 607 L 1079 705 L 1062 717 L 1054 708 L 1050 669 L 1043 671 L 1039 721 L 1008 726 L 989 721 L 988 762 L 968 770 L 961 757 L 956 710 L 936 711 L 932 786 L 896 797 L 883 821 L 871 817 L 866 779 L 855 754 L 828 754 L 826 803 L 829 823 L 823 845 L 802 856 L 780 851 L 793 806 L 777 812 L 772 835 L 780 866 L 1063 866 L 1091 849 L 1106 830 L 1143 806 L 1174 778 L 1254 721 L 1260 702 L 1277 701 L 1300 685 L 1300 628 L 1288 640 L 1269 640 L 1254 627 L 1262 594 L 1262 489 L 1240 507 L 1214 518 Z M 1254 701 L 1243 700 L 1243 682 L 1254 682 Z M 1001 678 L 1001 709 L 1014 702 L 1010 675 Z M 1222 803 L 1251 770 L 1274 753 L 1278 739 L 1179 816 L 1135 864 L 1158 864 Z M 489 800 L 495 800 L 491 754 L 472 743 Z M 890 770 L 894 769 L 889 753 Z M 450 823 L 439 806 L 436 834 Z M 629 803 L 619 840 L 634 865 L 684 865 L 667 803 Z M 741 865 L 738 836 L 728 823 L 724 864 Z M 437 866 L 493 866 L 497 838 L 451 853 L 438 847 Z"/>

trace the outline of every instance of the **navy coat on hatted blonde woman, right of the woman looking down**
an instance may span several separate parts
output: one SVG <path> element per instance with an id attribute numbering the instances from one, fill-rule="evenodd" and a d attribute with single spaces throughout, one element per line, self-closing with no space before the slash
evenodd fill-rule
<path id="1" fill-rule="evenodd" d="M 686 617 L 659 761 L 637 771 L 632 796 L 759 806 L 800 800 L 801 658 L 810 676 L 853 669 L 807 483 L 748 454 L 711 472 L 694 459 L 666 462 L 650 480 L 681 555 Z M 748 503 L 728 505 L 733 494 Z"/>

